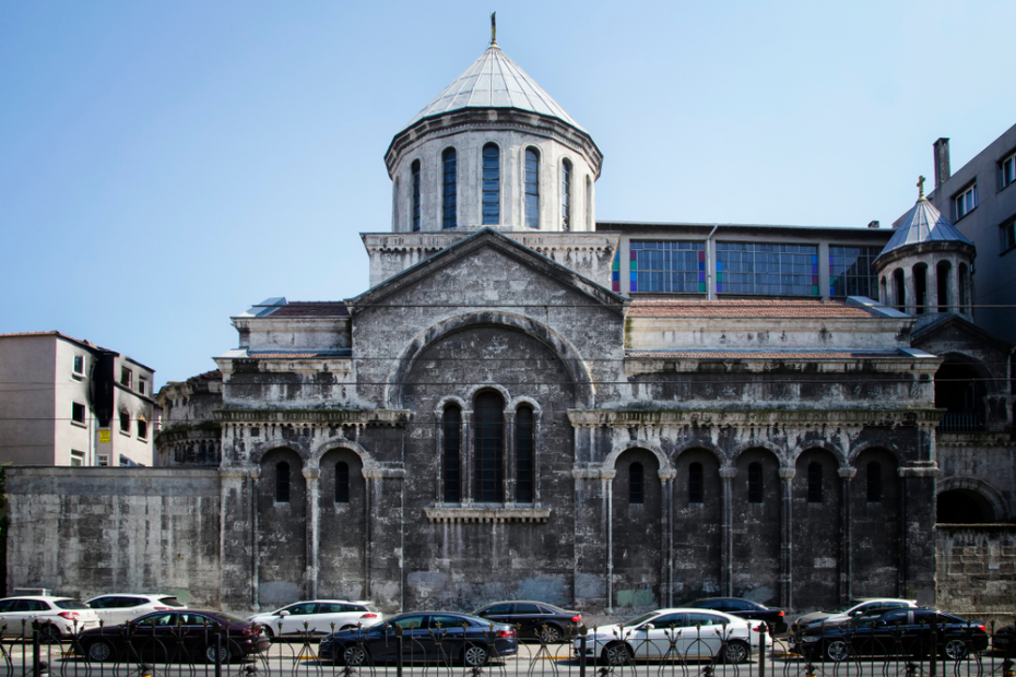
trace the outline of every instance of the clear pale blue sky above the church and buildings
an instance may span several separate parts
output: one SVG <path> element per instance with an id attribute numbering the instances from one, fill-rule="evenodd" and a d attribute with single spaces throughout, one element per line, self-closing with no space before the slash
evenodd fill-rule
<path id="1" fill-rule="evenodd" d="M 0 3 L 0 333 L 156 382 L 367 287 L 391 138 L 498 45 L 595 140 L 601 219 L 888 226 L 1016 122 L 1016 2 Z"/>

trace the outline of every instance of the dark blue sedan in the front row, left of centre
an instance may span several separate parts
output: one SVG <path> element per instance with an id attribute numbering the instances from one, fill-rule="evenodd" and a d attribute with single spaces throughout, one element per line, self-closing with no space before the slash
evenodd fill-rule
<path id="1" fill-rule="evenodd" d="M 402 660 L 406 663 L 458 662 L 466 667 L 493 658 L 513 656 L 519 638 L 512 626 L 451 611 L 401 614 L 369 628 L 333 632 L 321 640 L 318 656 L 341 665 L 390 663 L 398 658 L 395 629 L 402 631 Z"/>

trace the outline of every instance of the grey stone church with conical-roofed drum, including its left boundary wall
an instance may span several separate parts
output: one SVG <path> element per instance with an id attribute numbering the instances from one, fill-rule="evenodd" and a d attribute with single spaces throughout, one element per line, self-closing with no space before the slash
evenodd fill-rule
<path id="1" fill-rule="evenodd" d="M 923 197 L 893 230 L 598 222 L 595 142 L 493 41 L 385 161 L 369 288 L 234 317 L 161 393 L 164 467 L 9 471 L 9 585 L 934 604 L 943 449 L 961 521 L 1016 514 L 1012 346 Z"/>

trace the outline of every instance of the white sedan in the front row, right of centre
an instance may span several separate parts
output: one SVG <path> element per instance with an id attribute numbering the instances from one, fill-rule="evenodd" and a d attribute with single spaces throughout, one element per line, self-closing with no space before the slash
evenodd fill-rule
<path id="1" fill-rule="evenodd" d="M 709 609 L 658 609 L 613 626 L 601 626 L 586 637 L 586 656 L 610 665 L 634 661 L 713 658 L 744 663 L 758 650 L 764 623 Z M 766 637 L 767 650 L 772 637 Z M 723 642 L 725 641 L 725 650 Z M 575 640 L 580 655 L 581 638 Z"/>

